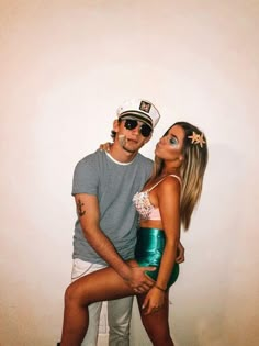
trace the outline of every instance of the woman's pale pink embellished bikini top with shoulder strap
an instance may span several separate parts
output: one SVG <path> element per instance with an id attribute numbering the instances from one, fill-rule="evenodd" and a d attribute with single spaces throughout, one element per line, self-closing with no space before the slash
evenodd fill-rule
<path id="1" fill-rule="evenodd" d="M 146 191 L 137 192 L 134 194 L 133 203 L 136 210 L 138 211 L 138 213 L 140 214 L 142 220 L 161 220 L 159 208 L 156 208 L 150 203 L 149 192 L 153 189 L 155 189 L 158 186 L 158 183 L 160 183 L 167 177 L 164 177 L 161 180 L 155 183 L 150 189 Z M 179 182 L 181 183 L 181 179 L 178 176 L 170 175 L 170 177 L 177 178 Z"/>

